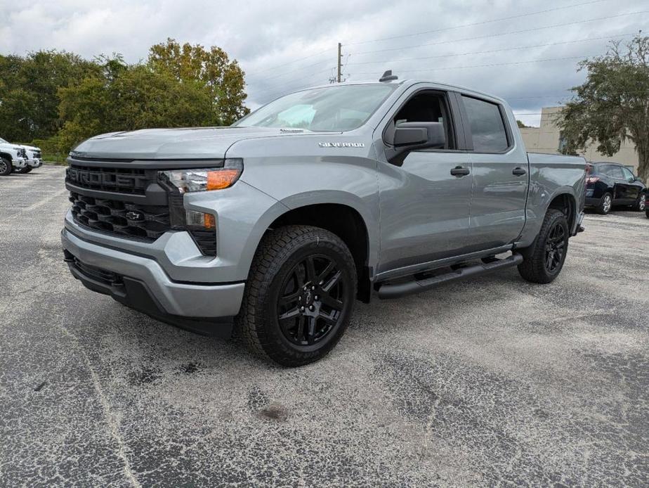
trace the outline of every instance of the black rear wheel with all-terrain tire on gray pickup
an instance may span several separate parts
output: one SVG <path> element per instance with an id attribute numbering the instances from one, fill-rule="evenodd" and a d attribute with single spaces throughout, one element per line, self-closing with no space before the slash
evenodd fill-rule
<path id="1" fill-rule="evenodd" d="M 562 250 L 560 257 L 556 259 L 556 255 L 549 254 L 552 249 L 556 252 L 554 245 L 554 237 L 560 233 Z M 568 220 L 565 214 L 560 210 L 550 209 L 545 214 L 543 224 L 539 235 L 534 240 L 529 248 L 519 250 L 523 255 L 523 262 L 518 265 L 518 272 L 520 276 L 532 283 L 551 283 L 559 275 L 565 262 L 565 257 L 568 254 Z M 554 266 L 549 266 L 549 262 Z"/>

